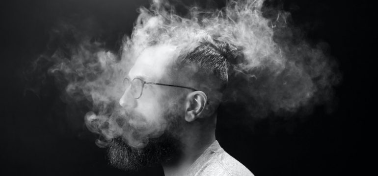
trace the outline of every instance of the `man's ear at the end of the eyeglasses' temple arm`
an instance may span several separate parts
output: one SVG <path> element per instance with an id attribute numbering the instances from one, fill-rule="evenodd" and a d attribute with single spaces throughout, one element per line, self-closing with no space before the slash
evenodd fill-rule
<path id="1" fill-rule="evenodd" d="M 185 120 L 192 122 L 200 117 L 201 112 L 205 109 L 207 96 L 203 91 L 193 91 L 187 96 L 185 102 Z"/>

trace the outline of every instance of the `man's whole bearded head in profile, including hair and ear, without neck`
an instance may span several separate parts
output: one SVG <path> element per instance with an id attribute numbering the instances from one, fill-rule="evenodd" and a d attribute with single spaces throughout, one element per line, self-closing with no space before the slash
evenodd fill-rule
<path id="1" fill-rule="evenodd" d="M 182 136 L 188 129 L 214 133 L 220 92 L 228 81 L 229 48 L 216 40 L 202 41 L 189 52 L 167 44 L 145 48 L 119 100 L 132 130 L 113 141 L 111 163 L 128 170 L 166 162 L 186 147 Z"/>

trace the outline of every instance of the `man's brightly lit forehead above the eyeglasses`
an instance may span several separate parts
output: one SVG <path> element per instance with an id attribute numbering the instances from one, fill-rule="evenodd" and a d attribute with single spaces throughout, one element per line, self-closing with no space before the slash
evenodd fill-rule
<path id="1" fill-rule="evenodd" d="M 167 66 L 177 58 L 174 46 L 160 45 L 144 49 L 135 61 L 135 65 L 129 72 L 129 77 L 145 78 L 145 81 L 161 79 Z"/>

